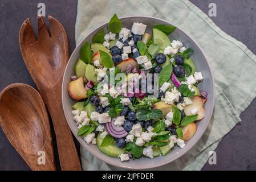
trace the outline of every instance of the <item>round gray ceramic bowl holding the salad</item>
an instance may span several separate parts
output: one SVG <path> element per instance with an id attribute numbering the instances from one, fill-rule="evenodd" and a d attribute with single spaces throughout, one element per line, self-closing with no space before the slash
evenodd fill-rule
<path id="1" fill-rule="evenodd" d="M 127 27 L 129 29 L 131 29 L 133 22 L 141 22 L 141 23 L 147 24 L 146 32 L 148 32 L 151 35 L 152 35 L 152 27 L 156 24 L 172 25 L 171 23 L 166 22 L 165 20 L 153 18 L 149 16 L 129 16 L 129 17 L 121 18 L 120 20 L 123 23 L 123 27 Z M 73 120 L 73 115 L 71 113 L 72 105 L 75 103 L 75 101 L 72 100 L 72 98 L 68 95 L 68 90 L 67 90 L 68 82 L 70 82 L 70 77 L 72 75 L 75 75 L 74 68 L 75 68 L 76 61 L 79 59 L 80 48 L 83 46 L 83 44 L 86 41 L 91 42 L 92 37 L 95 35 L 97 31 L 100 30 L 101 27 L 105 29 L 105 32 L 107 32 L 107 23 L 105 23 L 99 28 L 97 28 L 96 30 L 92 31 L 91 34 L 89 34 L 86 38 L 83 39 L 82 42 L 79 43 L 79 46 L 76 47 L 75 51 L 72 53 L 70 57 L 70 60 L 68 61 L 66 71 L 63 77 L 63 85 L 62 85 L 63 109 L 67 118 L 68 125 L 70 126 L 70 129 L 72 133 L 75 135 L 75 137 L 76 137 L 78 128 L 76 126 L 76 123 Z M 127 169 L 155 168 L 155 167 L 163 166 L 164 164 L 168 164 L 180 158 L 182 155 L 188 152 L 190 148 L 192 148 L 204 134 L 206 127 L 208 126 L 208 123 L 210 121 L 210 117 L 212 116 L 213 107 L 214 107 L 214 81 L 213 81 L 212 71 L 209 67 L 208 61 L 206 60 L 206 57 L 202 52 L 202 49 L 200 48 L 200 46 L 198 46 L 198 44 L 192 38 L 186 35 L 184 31 L 182 31 L 180 28 L 177 27 L 176 30 L 169 35 L 169 38 L 170 40 L 180 40 L 182 43 L 184 43 L 185 47 L 192 47 L 194 49 L 194 53 L 191 58 L 196 64 L 197 71 L 202 72 L 202 75 L 204 76 L 204 81 L 202 81 L 199 84 L 199 89 L 204 90 L 208 93 L 208 101 L 205 104 L 205 110 L 206 110 L 205 118 L 202 119 L 202 121 L 197 122 L 196 134 L 186 142 L 186 146 L 182 149 L 179 147 L 174 147 L 174 149 L 165 156 L 160 156 L 153 159 L 141 158 L 137 160 L 130 160 L 129 162 L 121 162 L 120 159 L 109 157 L 103 154 L 102 152 L 100 152 L 97 146 L 93 144 L 87 144 L 81 137 L 76 137 L 79 143 L 83 147 L 85 147 L 86 150 L 88 150 L 92 155 L 96 156 L 97 158 L 103 160 L 108 164 L 112 164 L 113 166 L 117 166 L 121 168 L 127 168 Z"/>

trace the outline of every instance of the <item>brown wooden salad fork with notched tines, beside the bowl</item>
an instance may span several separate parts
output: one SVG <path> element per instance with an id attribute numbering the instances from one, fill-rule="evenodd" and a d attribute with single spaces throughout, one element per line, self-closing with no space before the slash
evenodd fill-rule
<path id="1" fill-rule="evenodd" d="M 37 17 L 38 40 L 30 19 L 19 32 L 19 45 L 27 69 L 34 80 L 48 111 L 56 134 L 62 170 L 81 170 L 78 152 L 62 107 L 62 78 L 68 62 L 66 32 L 52 16 L 48 16 L 50 31 L 42 16 Z"/>

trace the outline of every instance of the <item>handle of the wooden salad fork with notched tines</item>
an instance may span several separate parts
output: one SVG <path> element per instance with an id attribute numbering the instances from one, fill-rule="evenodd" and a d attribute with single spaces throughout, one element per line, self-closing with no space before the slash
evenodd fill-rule
<path id="1" fill-rule="evenodd" d="M 58 146 L 60 166 L 63 171 L 82 170 L 70 127 L 62 108 L 61 94 L 47 94 L 47 108 L 50 112 Z"/>

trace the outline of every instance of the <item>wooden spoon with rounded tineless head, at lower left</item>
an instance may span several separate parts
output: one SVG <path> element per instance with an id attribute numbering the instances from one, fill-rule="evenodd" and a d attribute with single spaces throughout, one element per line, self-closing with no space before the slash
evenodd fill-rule
<path id="1" fill-rule="evenodd" d="M 6 137 L 29 167 L 56 170 L 50 121 L 40 94 L 26 84 L 9 85 L 0 93 L 0 111 Z"/>

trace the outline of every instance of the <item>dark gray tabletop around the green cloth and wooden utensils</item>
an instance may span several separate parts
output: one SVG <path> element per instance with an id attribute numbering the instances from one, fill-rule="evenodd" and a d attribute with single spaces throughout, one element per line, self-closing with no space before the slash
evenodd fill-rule
<path id="1" fill-rule="evenodd" d="M 227 34 L 240 40 L 256 53 L 256 1 L 191 1 L 206 14 L 209 11 L 209 3 L 216 3 L 217 17 L 211 19 Z M 35 87 L 23 63 L 19 50 L 18 32 L 26 18 L 31 18 L 35 27 L 39 2 L 46 4 L 47 15 L 54 16 L 63 24 L 70 44 L 70 53 L 75 48 L 76 0 L 0 0 L 0 91 L 14 82 L 23 82 Z M 256 101 L 254 100 L 241 114 L 242 122 L 235 126 L 217 147 L 217 165 L 206 164 L 204 170 L 256 169 L 255 109 Z M 1 129 L 0 170 L 29 170 Z"/>

